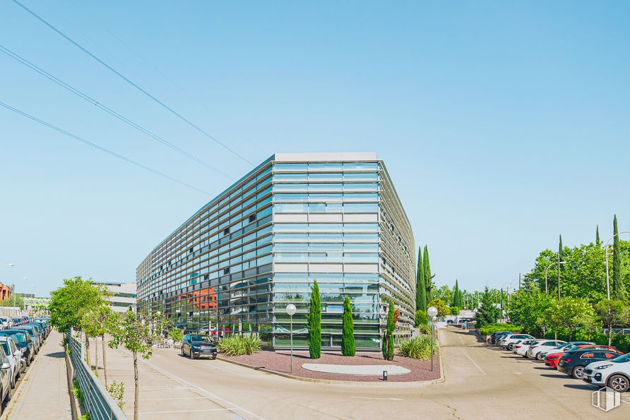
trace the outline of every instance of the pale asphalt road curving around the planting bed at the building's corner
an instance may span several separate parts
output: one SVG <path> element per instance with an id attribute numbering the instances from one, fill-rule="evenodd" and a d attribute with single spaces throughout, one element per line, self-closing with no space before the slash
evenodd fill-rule
<path id="1" fill-rule="evenodd" d="M 141 386 L 141 418 L 174 413 L 186 419 L 630 418 L 630 395 L 621 407 L 602 412 L 591 405 L 596 388 L 542 362 L 487 347 L 472 332 L 456 328 L 441 330 L 440 340 L 446 381 L 431 385 L 308 383 L 155 349 L 141 362 L 157 385 Z M 165 381 L 171 385 L 160 388 Z M 160 400 L 159 407 L 143 409 L 148 397 Z"/>

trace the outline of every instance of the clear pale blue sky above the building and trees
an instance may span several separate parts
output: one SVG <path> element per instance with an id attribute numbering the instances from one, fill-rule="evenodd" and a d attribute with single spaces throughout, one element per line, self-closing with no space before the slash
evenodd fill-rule
<path id="1" fill-rule="evenodd" d="M 516 284 L 559 234 L 630 228 L 628 2 L 20 1 L 254 164 L 376 152 L 438 286 Z M 0 102 L 209 193 L 0 107 L 0 282 L 17 292 L 134 281 L 251 169 L 13 1 L 0 45 L 232 177 L 0 53 Z"/>

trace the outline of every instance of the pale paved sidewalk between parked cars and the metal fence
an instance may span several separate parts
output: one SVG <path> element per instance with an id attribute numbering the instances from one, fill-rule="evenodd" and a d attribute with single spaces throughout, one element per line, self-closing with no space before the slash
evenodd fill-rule
<path id="1" fill-rule="evenodd" d="M 66 359 L 61 334 L 52 330 L 46 344 L 8 403 L 1 419 L 71 419 Z"/>

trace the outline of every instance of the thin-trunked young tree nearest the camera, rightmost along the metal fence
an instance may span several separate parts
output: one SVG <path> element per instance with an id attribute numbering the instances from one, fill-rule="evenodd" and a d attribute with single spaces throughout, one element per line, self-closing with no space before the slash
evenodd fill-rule
<path id="1" fill-rule="evenodd" d="M 157 328 L 151 326 L 157 325 Z M 140 392 L 138 389 L 138 354 L 143 359 L 149 359 L 153 354 L 153 342 L 160 340 L 159 332 L 165 328 L 165 321 L 157 316 L 148 314 L 136 314 L 133 311 L 126 311 L 118 322 L 109 323 L 109 333 L 112 340 L 109 340 L 109 347 L 118 348 L 123 346 L 131 352 L 133 356 L 133 420 L 138 420 L 138 402 Z"/>

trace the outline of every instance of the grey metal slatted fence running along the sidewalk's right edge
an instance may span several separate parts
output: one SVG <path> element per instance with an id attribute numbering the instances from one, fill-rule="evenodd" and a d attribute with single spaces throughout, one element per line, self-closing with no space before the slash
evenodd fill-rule
<path id="1" fill-rule="evenodd" d="M 77 340 L 72 334 L 68 337 L 70 361 L 74 372 L 74 379 L 78 381 L 83 393 L 83 409 L 90 413 L 94 420 L 126 420 L 126 416 L 116 404 L 100 380 L 95 376 L 90 366 L 85 363 L 85 344 Z"/>

